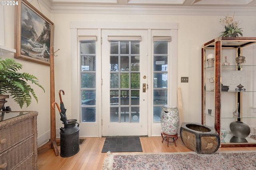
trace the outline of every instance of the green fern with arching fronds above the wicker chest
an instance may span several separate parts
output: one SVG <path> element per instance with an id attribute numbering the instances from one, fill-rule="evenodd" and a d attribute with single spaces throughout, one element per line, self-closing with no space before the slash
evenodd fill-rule
<path id="1" fill-rule="evenodd" d="M 26 104 L 28 107 L 32 102 L 32 96 L 38 102 L 38 98 L 34 93 L 32 87 L 28 84 L 31 82 L 44 90 L 44 87 L 39 84 L 38 79 L 29 73 L 19 73 L 18 70 L 22 69 L 22 65 L 17 63 L 12 58 L 0 58 L 0 95 L 8 95 L 14 99 L 20 108 Z M 0 97 L 1 98 L 1 97 Z M 8 97 L 6 97 L 8 98 Z M 1 110 L 0 105 L 0 110 Z"/>

